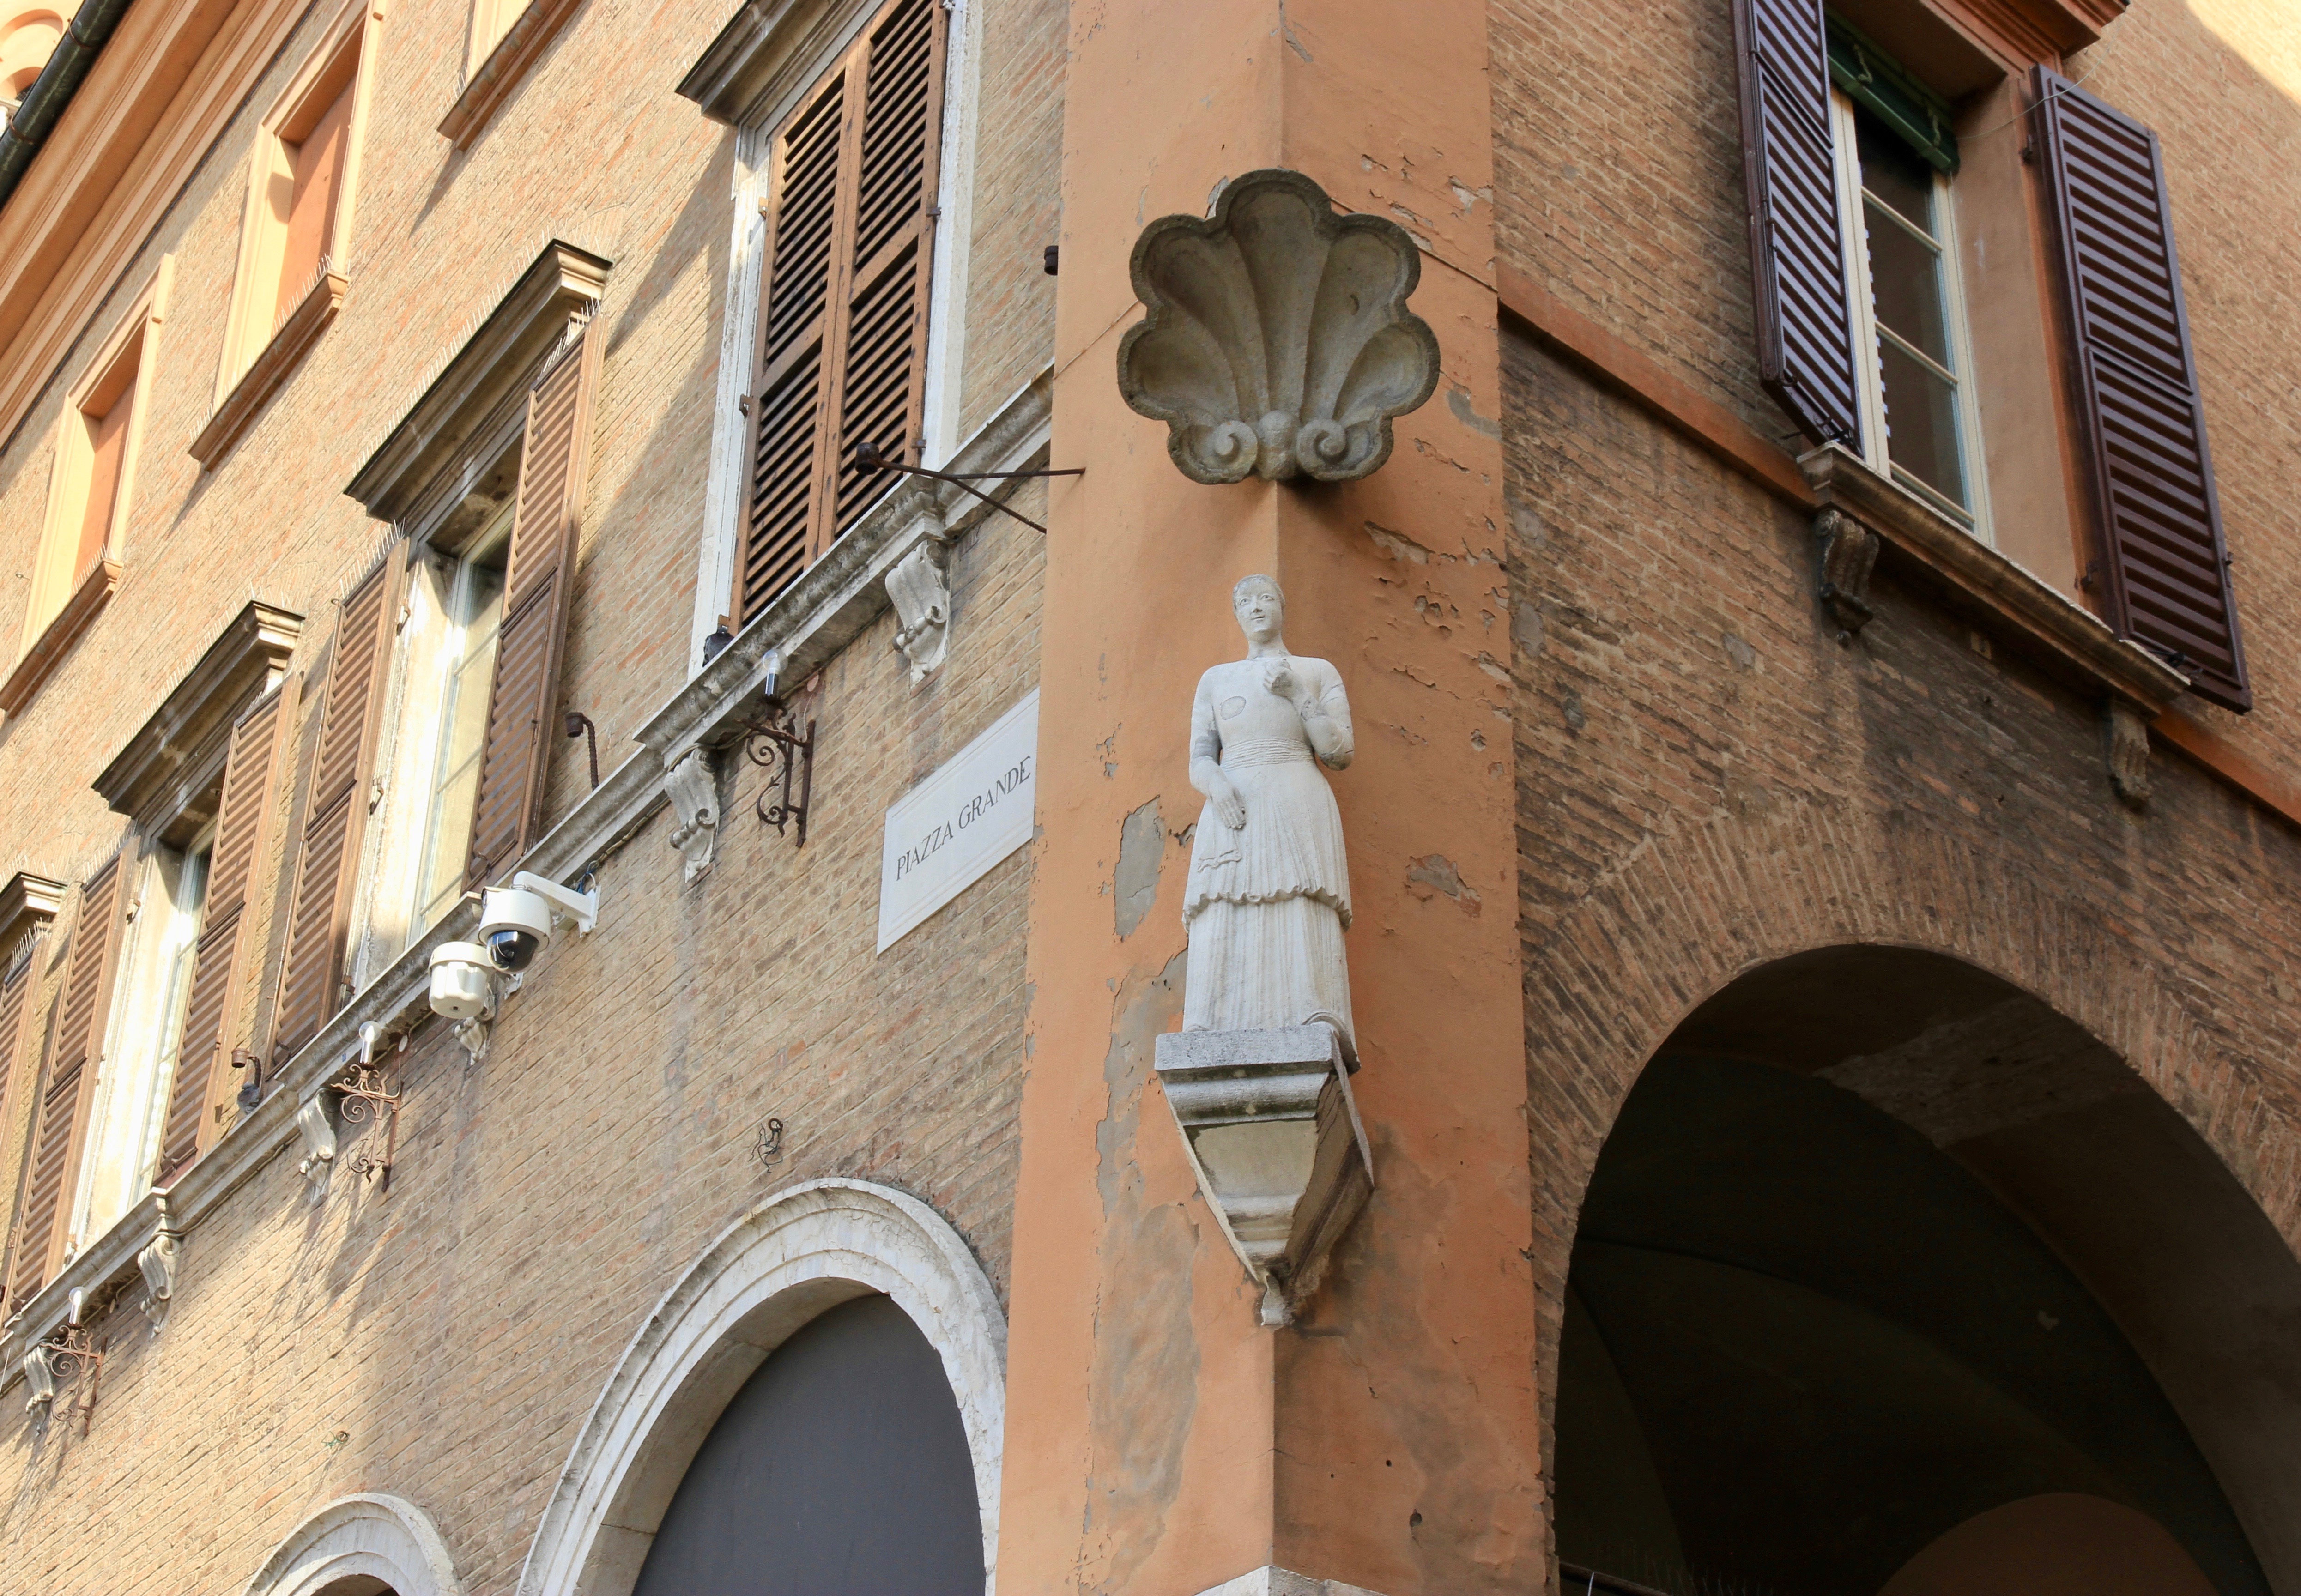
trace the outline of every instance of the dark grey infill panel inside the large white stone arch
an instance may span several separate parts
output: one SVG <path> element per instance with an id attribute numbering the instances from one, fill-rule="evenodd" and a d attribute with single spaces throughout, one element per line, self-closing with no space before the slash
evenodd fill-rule
<path id="1" fill-rule="evenodd" d="M 983 1520 L 943 1361 L 888 1297 L 775 1348 L 688 1465 L 633 1596 L 978 1596 Z"/>

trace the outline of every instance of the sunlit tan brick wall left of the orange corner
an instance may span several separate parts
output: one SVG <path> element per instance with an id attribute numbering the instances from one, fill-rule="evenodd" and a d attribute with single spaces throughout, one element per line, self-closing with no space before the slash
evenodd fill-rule
<path id="1" fill-rule="evenodd" d="M 255 120 L 334 16 L 315 7 L 161 218 L 115 294 L 161 253 L 175 299 L 154 359 L 129 575 L 28 713 L 0 727 L 0 862 L 78 881 L 122 832 L 87 782 L 246 598 L 306 616 L 288 692 L 324 669 L 334 598 L 382 529 L 343 497 L 357 467 L 548 237 L 612 258 L 591 471 L 561 701 L 594 718 L 603 770 L 683 683 L 711 402 L 727 292 L 734 133 L 672 85 L 723 7 L 575 7 L 469 152 L 435 124 L 456 94 L 465 0 L 393 5 L 357 195 L 352 285 L 288 386 L 214 471 L 207 421 Z M 1054 5 L 992 7 L 983 57 L 969 412 L 962 437 L 1052 350 L 1061 120 Z M 614 62 L 614 71 L 601 71 Z M 117 308 L 113 310 L 113 315 Z M 0 448 L 0 628 L 25 603 L 62 389 L 108 317 Z M 1017 506 L 1042 517 L 1033 488 Z M 1035 508 L 1033 508 L 1035 506 Z M 953 642 L 925 685 L 881 614 L 821 674 L 808 846 L 752 809 L 764 773 L 729 754 L 718 865 L 681 888 L 658 814 L 601 867 L 601 929 L 529 975 L 479 1067 L 442 1026 L 405 1062 L 389 1196 L 345 1164 L 313 1205 L 290 1145 L 191 1235 L 166 1332 L 117 1304 L 92 1433 L 0 1417 L 0 1589 L 237 1589 L 301 1518 L 350 1490 L 430 1511 L 469 1591 L 506 1591 L 575 1428 L 660 1292 L 729 1221 L 821 1175 L 907 1189 L 1008 1279 L 1029 849 L 874 954 L 886 807 L 1038 672 L 1040 536 L 1006 517 L 953 552 Z M 320 695 L 297 704 L 274 895 L 258 897 L 278 980 L 276 897 L 292 872 Z M 545 823 L 589 787 L 552 738 Z M 41 950 L 62 977 L 76 906 Z M 41 1010 L 46 1012 L 46 1010 Z M 14 1171 L 37 1099 L 7 1097 Z M 787 1125 L 762 1168 L 759 1122 Z M 373 1131 L 370 1131 L 373 1138 Z M 21 1387 L 16 1387 L 21 1391 Z"/>

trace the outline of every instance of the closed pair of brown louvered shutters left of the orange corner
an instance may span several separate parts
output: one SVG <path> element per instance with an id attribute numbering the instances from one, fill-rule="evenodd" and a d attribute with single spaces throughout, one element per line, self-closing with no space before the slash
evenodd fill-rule
<path id="1" fill-rule="evenodd" d="M 856 444 L 920 448 L 943 7 L 890 0 L 775 131 L 736 621 L 886 485 Z"/>

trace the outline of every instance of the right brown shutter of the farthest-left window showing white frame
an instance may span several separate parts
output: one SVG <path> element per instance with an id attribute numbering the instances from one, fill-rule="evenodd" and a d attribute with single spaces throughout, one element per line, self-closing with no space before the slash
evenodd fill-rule
<path id="1" fill-rule="evenodd" d="M 255 860 L 272 835 L 272 780 L 281 731 L 281 692 L 272 690 L 232 727 L 223 757 L 223 798 L 216 805 L 216 844 L 207 865 L 207 906 L 200 913 L 200 945 L 191 964 L 191 998 L 184 1003 L 184 1039 L 175 1053 L 168 1088 L 168 1125 L 161 1131 L 159 1180 L 175 1180 L 214 1141 L 207 1102 L 216 1095 L 232 1010 L 246 977 L 249 950 L 239 934 L 246 918 Z"/>

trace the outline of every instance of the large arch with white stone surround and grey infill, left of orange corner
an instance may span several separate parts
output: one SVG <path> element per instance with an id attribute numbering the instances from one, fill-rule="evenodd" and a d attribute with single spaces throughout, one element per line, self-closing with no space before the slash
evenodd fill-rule
<path id="1" fill-rule="evenodd" d="M 987 1589 L 1003 1419 L 1006 1315 L 964 1237 L 902 1191 L 792 1187 L 640 1325 L 518 1594 Z M 739 1559 L 713 1552 L 729 1536 Z"/>

